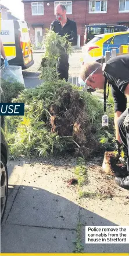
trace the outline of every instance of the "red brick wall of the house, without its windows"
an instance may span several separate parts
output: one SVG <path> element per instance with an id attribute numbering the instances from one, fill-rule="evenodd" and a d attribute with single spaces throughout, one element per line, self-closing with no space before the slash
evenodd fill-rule
<path id="1" fill-rule="evenodd" d="M 48 1 L 49 2 L 49 1 Z M 32 16 L 31 3 L 24 3 L 25 20 L 31 25 L 32 23 L 44 24 L 44 29 L 49 28 L 51 22 L 55 20 L 54 2 L 44 2 L 44 15 Z M 107 0 L 107 13 L 88 13 L 88 0 L 73 0 L 72 15 L 67 15 L 77 23 L 77 33 L 84 36 L 84 25 L 89 23 L 109 23 L 118 24 L 118 22 L 129 21 L 129 13 L 119 13 L 119 0 Z M 34 34 L 34 30 L 31 29 Z"/>

